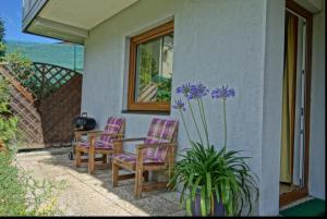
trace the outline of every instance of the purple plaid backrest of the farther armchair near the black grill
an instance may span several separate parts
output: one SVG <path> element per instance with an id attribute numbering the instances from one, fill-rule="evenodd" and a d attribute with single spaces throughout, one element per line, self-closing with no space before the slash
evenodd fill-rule
<path id="1" fill-rule="evenodd" d="M 119 134 L 124 130 L 124 118 L 109 117 L 105 126 L 105 134 Z M 100 135 L 100 141 L 105 143 L 111 143 L 114 137 L 108 135 Z"/>

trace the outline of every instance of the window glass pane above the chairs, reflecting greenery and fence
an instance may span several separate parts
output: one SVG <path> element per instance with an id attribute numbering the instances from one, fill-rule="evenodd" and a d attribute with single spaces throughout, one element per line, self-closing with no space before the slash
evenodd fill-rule
<path id="1" fill-rule="evenodd" d="M 166 35 L 137 46 L 135 101 L 170 101 L 173 37 Z"/>

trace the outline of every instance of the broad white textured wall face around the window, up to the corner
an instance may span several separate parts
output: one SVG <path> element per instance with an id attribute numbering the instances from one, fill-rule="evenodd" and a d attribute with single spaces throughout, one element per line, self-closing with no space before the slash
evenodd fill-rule
<path id="1" fill-rule="evenodd" d="M 174 17 L 172 100 L 175 88 L 186 82 L 201 81 L 210 88 L 234 87 L 237 96 L 228 101 L 228 147 L 244 149 L 245 156 L 253 157 L 250 165 L 254 172 L 261 174 L 264 10 L 262 0 L 136 2 L 89 33 L 82 110 L 94 115 L 99 127 L 108 115 L 121 114 L 126 99 L 126 37 Z M 211 142 L 221 147 L 221 102 L 206 104 Z M 126 136 L 144 136 L 155 117 L 122 115 L 128 121 Z M 170 118 L 179 119 L 178 112 L 171 111 Z M 182 125 L 179 143 L 179 149 L 187 147 Z"/>

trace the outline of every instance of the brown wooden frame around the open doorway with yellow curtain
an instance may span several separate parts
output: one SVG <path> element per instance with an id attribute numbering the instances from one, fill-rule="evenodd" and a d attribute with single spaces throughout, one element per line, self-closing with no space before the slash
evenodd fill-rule
<path id="1" fill-rule="evenodd" d="M 306 20 L 305 44 L 305 100 L 304 100 L 304 187 L 295 188 L 289 193 L 279 195 L 279 207 L 286 206 L 308 194 L 308 153 L 310 153 L 310 111 L 311 111 L 311 71 L 312 71 L 312 35 L 313 14 L 294 2 L 286 0 L 286 10 L 289 9 Z"/>

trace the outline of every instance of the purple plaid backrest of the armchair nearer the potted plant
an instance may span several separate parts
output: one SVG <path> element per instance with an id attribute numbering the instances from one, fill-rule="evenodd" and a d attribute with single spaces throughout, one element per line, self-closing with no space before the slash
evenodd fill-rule
<path id="1" fill-rule="evenodd" d="M 147 133 L 145 144 L 172 143 L 177 142 L 178 121 L 154 118 Z M 147 148 L 146 158 L 165 161 L 167 148 Z"/>

